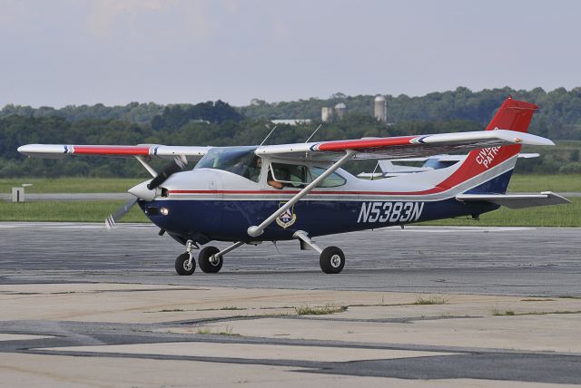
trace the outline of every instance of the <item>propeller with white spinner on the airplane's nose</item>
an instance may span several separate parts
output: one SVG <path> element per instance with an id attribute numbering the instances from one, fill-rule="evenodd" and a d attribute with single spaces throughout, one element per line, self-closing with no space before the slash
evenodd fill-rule
<path id="1" fill-rule="evenodd" d="M 172 174 L 183 170 L 187 163 L 188 160 L 185 156 L 177 155 L 173 159 L 173 163 L 157 174 L 148 184 L 143 182 L 132 189 L 129 189 L 128 191 L 132 193 L 135 198 L 125 202 L 121 208 L 107 216 L 105 219 L 105 226 L 108 229 L 113 228 L 117 221 L 123 218 L 123 216 L 133 208 L 133 205 L 135 205 L 139 199 L 153 200 L 156 196 L 155 189 L 157 189 L 166 179 L 170 178 Z M 147 189 L 145 189 L 145 187 Z"/>

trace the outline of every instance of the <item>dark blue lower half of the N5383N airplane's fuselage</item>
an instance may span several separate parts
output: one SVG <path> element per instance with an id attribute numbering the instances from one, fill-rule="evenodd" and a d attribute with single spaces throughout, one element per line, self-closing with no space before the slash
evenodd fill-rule
<path id="1" fill-rule="evenodd" d="M 247 230 L 279 209 L 281 200 L 163 200 L 139 204 L 155 225 L 172 236 L 194 240 L 271 241 L 288 240 L 297 230 L 311 237 L 371 228 L 385 228 L 440 218 L 479 215 L 497 209 L 489 203 L 438 201 L 303 200 L 281 222 L 274 222 L 258 238 Z M 168 210 L 162 216 L 159 209 Z M 279 221 L 279 219 L 277 219 Z M 286 221 L 286 222 L 285 222 Z M 203 236 L 203 238 L 202 238 Z M 203 242 L 202 242 L 203 243 Z"/>

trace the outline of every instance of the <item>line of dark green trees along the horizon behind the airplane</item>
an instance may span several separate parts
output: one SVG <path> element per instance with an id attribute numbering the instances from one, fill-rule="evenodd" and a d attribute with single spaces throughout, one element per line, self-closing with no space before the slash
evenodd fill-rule
<path id="1" fill-rule="evenodd" d="M 541 149 L 542 157 L 517 165 L 529 172 L 581 172 L 581 88 L 567 92 L 530 92 L 497 89 L 470 92 L 430 93 L 423 97 L 386 96 L 389 125 L 372 116 L 374 96 L 350 97 L 337 93 L 328 100 L 253 102 L 235 108 L 226 102 L 156 105 L 132 102 L 124 107 L 94 106 L 54 108 L 6 105 L 0 111 L 0 178 L 13 177 L 136 177 L 143 175 L 135 160 L 113 158 L 66 158 L 37 160 L 17 152 L 28 143 L 64 144 L 167 144 L 242 145 L 260 144 L 272 127 L 271 118 L 310 118 L 307 125 L 279 125 L 268 144 L 306 141 L 320 124 L 320 107 L 344 102 L 348 113 L 342 120 L 323 123 L 312 141 L 399 136 L 448 131 L 480 131 L 497 107 L 512 94 L 535 102 L 541 110 L 531 132 L 551 139 L 569 139 L 555 150 Z M 522 167 L 521 167 L 522 165 Z M 372 161 L 352 163 L 352 172 L 372 170 Z"/>

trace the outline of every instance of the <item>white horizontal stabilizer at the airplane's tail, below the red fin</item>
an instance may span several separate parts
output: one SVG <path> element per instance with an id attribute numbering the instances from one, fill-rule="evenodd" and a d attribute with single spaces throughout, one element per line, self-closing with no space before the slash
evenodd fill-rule
<path id="1" fill-rule="evenodd" d="M 466 202 L 491 202 L 510 209 L 559 205 L 571 202 L 551 191 L 543 191 L 540 194 L 458 194 L 456 199 Z"/>

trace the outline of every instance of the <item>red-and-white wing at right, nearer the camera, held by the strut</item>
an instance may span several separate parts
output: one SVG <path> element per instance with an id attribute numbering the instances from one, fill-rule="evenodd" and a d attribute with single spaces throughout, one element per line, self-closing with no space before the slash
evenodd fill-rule
<path id="1" fill-rule="evenodd" d="M 495 130 L 270 145 L 259 147 L 256 154 L 292 160 L 332 161 L 351 150 L 355 152 L 354 159 L 392 160 L 514 144 L 555 145 L 553 141 L 530 133 Z"/>

